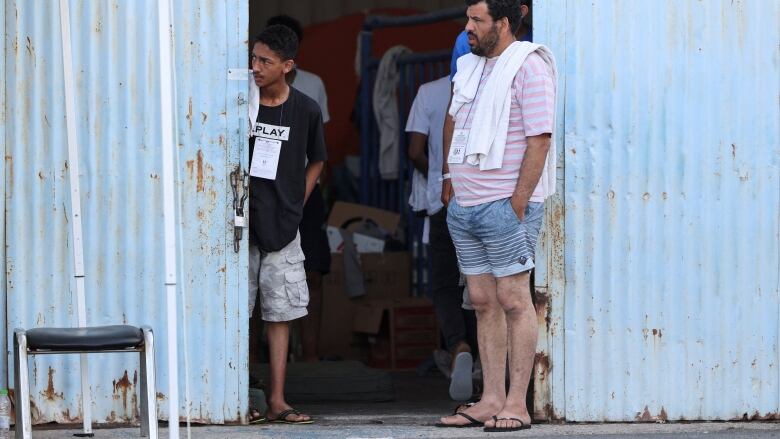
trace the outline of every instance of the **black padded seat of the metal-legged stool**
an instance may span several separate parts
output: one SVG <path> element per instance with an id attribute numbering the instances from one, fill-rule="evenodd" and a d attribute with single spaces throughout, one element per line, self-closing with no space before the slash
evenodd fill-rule
<path id="1" fill-rule="evenodd" d="M 29 349 L 101 351 L 137 348 L 144 342 L 140 328 L 130 325 L 90 328 L 36 328 L 27 331 Z"/>

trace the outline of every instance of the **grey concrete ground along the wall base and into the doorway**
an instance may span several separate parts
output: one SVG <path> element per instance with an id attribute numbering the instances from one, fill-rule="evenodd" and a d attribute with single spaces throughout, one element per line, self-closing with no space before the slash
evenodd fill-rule
<path id="1" fill-rule="evenodd" d="M 780 423 L 668 423 L 668 424 L 536 424 L 515 433 L 484 433 L 478 428 L 436 428 L 433 424 L 456 405 L 447 397 L 441 376 L 394 376 L 396 401 L 389 403 L 319 403 L 296 405 L 316 419 L 314 425 L 193 426 L 191 438 L 273 439 L 402 439 L 402 438 L 778 438 Z M 421 391 L 424 389 L 424 391 Z M 40 426 L 34 437 L 72 437 L 78 430 Z M 96 438 L 139 437 L 138 428 L 95 429 Z M 167 438 L 161 428 L 160 437 Z M 187 438 L 182 427 L 181 437 Z"/>

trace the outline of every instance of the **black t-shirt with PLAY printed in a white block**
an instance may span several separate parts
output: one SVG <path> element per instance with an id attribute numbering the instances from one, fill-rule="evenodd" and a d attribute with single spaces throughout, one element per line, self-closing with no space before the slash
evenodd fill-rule
<path id="1" fill-rule="evenodd" d="M 252 130 L 250 166 L 256 135 L 282 142 L 276 179 L 250 177 L 249 180 L 250 238 L 261 250 L 274 252 L 287 246 L 298 233 L 306 195 L 306 159 L 320 162 L 327 158 L 322 114 L 314 100 L 290 87 L 290 96 L 284 104 L 260 105 L 257 122 L 264 127 Z"/>

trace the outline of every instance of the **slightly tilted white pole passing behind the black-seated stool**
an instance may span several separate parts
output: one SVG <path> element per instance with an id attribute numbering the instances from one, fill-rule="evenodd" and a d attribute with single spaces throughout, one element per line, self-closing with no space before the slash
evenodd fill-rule
<path id="1" fill-rule="evenodd" d="M 76 309 L 79 327 L 87 326 L 87 307 L 84 299 L 84 242 L 81 231 L 81 193 L 79 190 L 79 144 L 76 137 L 76 99 L 73 91 L 73 52 L 70 44 L 70 8 L 68 0 L 60 0 L 60 29 L 62 32 L 62 67 L 65 75 L 65 120 L 68 129 L 68 169 L 70 174 L 70 210 L 73 228 L 73 269 L 76 278 Z M 81 411 L 84 434 L 92 433 L 92 398 L 89 388 L 87 354 L 81 354 Z"/>

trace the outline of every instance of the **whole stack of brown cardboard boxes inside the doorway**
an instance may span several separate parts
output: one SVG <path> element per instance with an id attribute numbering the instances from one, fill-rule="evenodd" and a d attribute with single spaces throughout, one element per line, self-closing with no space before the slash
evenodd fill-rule
<path id="1" fill-rule="evenodd" d="M 370 221 L 394 232 L 397 213 L 336 203 L 328 219 L 331 273 L 325 277 L 320 351 L 329 357 L 366 361 L 373 367 L 408 369 L 430 357 L 438 342 L 433 307 L 410 297 L 409 252 L 386 252 L 384 241 L 353 235 L 366 294 L 350 299 L 344 289 L 342 226 Z"/>

